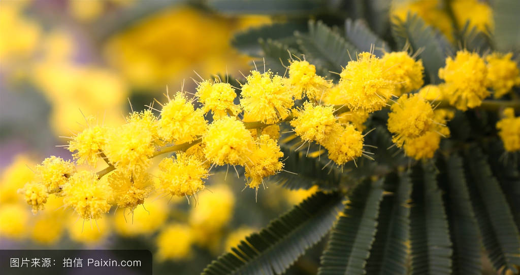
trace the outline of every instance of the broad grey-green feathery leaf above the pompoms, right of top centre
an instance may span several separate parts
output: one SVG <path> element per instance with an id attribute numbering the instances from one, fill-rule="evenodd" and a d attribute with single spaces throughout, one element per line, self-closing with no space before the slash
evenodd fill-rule
<path id="1" fill-rule="evenodd" d="M 356 47 L 348 43 L 340 34 L 334 32 L 323 22 L 309 21 L 309 33 L 296 33 L 296 43 L 300 45 L 305 58 L 312 64 L 341 72 L 350 61 L 349 54 L 355 57 Z"/>

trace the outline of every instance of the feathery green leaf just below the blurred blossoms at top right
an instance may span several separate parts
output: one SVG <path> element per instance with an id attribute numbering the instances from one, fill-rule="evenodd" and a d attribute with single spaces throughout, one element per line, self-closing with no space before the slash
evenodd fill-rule
<path id="1" fill-rule="evenodd" d="M 416 14 L 409 13 L 405 21 L 398 18 L 396 21 L 392 26 L 392 33 L 398 47 L 404 48 L 408 43 L 414 52 L 422 50 L 419 58 L 423 61 L 426 77 L 431 83 L 438 83 L 438 70 L 445 65 L 446 57 L 453 52 L 446 37 L 426 25 Z"/>

